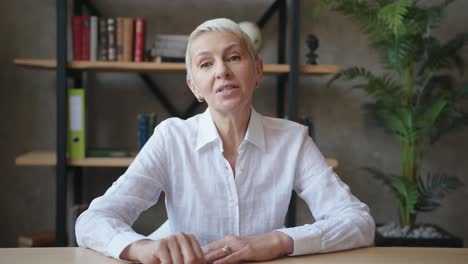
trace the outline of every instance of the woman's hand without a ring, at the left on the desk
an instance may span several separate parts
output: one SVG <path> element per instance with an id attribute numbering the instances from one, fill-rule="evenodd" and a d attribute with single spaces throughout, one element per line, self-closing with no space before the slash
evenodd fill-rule
<path id="1" fill-rule="evenodd" d="M 206 263 L 195 236 L 184 233 L 160 240 L 136 241 L 125 248 L 120 258 L 143 264 Z"/>

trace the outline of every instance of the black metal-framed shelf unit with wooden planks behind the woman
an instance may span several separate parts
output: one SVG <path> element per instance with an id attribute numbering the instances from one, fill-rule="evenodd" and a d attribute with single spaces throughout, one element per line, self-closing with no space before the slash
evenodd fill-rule
<path id="1" fill-rule="evenodd" d="M 290 34 L 289 34 L 289 63 L 286 63 L 286 9 L 287 1 L 290 1 Z M 287 112 L 289 119 L 297 121 L 298 112 L 298 90 L 300 75 L 324 75 L 334 74 L 338 72 L 338 67 L 335 65 L 300 65 L 299 63 L 299 19 L 300 19 L 300 0 L 275 0 L 272 5 L 266 10 L 262 17 L 257 21 L 257 24 L 262 28 L 271 16 L 277 12 L 278 23 L 278 64 L 265 64 L 264 71 L 266 74 L 277 75 L 277 114 L 284 116 Z M 75 15 L 81 12 L 82 5 L 88 7 L 91 13 L 100 16 L 99 12 L 87 0 L 74 0 Z M 16 158 L 18 166 L 55 166 L 56 168 L 56 243 L 57 246 L 66 246 L 66 197 L 67 197 L 67 170 L 73 169 L 75 176 L 81 177 L 81 167 L 126 167 L 134 159 L 129 158 L 85 158 L 81 160 L 67 160 L 67 78 L 72 78 L 76 86 L 82 86 L 82 79 L 77 73 L 85 71 L 118 71 L 118 72 L 136 72 L 145 81 L 148 86 L 154 84 L 148 80 L 144 73 L 185 73 L 183 63 L 154 63 L 154 62 L 90 62 L 90 61 L 68 61 L 67 60 L 67 18 L 68 18 L 67 1 L 56 1 L 56 26 L 57 26 L 57 52 L 56 59 L 15 59 L 14 63 L 21 67 L 54 70 L 56 72 L 56 106 L 57 106 L 57 147 L 55 151 L 33 151 L 20 155 Z M 78 76 L 78 77 L 77 77 Z M 289 87 L 286 91 L 286 82 L 289 82 Z M 168 109 L 170 113 L 171 105 L 168 104 L 164 95 L 159 91 L 153 92 L 159 96 L 161 103 Z M 288 109 L 285 111 L 285 99 L 288 101 Z M 193 110 L 196 102 L 189 107 L 187 113 Z M 182 117 L 185 117 L 184 114 Z M 327 162 L 333 166 L 338 166 L 338 162 L 334 159 L 327 159 Z M 76 180 L 76 179 L 75 179 Z M 79 183 L 79 182 L 78 182 Z M 76 185 L 76 183 L 75 183 Z M 81 185 L 79 183 L 79 185 Z M 75 187 L 76 188 L 76 187 Z M 75 200 L 77 200 L 75 196 Z M 287 216 L 288 225 L 295 223 L 295 202 L 294 195 L 290 204 Z"/>

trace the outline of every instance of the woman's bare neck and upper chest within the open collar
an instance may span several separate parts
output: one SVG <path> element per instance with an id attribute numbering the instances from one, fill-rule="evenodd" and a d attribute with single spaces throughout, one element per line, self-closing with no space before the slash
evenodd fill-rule
<path id="1" fill-rule="evenodd" d="M 245 133 L 247 132 L 250 114 L 250 105 L 244 110 L 235 113 L 222 114 L 216 111 L 211 112 L 219 136 L 223 141 L 225 154 L 237 154 L 237 149 L 244 140 Z"/>

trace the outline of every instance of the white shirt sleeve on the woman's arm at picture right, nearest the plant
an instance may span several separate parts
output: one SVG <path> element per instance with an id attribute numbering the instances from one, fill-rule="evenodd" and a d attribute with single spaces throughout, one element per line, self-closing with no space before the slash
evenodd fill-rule
<path id="1" fill-rule="evenodd" d="M 308 135 L 304 137 L 299 155 L 294 189 L 307 203 L 316 221 L 277 230 L 294 240 L 292 255 L 373 244 L 375 223 L 368 206 L 351 194 Z"/>

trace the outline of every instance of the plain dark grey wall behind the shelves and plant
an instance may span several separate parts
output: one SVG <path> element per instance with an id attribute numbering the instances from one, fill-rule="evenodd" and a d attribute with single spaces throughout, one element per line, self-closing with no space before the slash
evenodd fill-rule
<path id="1" fill-rule="evenodd" d="M 92 1 L 108 16 L 142 16 L 148 21 L 148 43 L 155 33 L 188 34 L 201 21 L 215 16 L 237 21 L 257 20 L 270 0 L 257 1 Z M 312 17 L 315 1 L 302 1 L 300 56 L 305 58 L 305 37 L 320 38 L 319 62 L 341 67 L 358 65 L 382 71 L 376 53 L 366 37 L 350 20 L 323 12 Z M 1 1 L 0 32 L 0 247 L 12 247 L 20 233 L 54 228 L 54 169 L 16 167 L 14 158 L 32 149 L 55 147 L 55 74 L 16 67 L 13 58 L 55 57 L 55 1 Z M 467 1 L 458 1 L 449 10 L 438 30 L 442 39 L 468 31 Z M 276 59 L 275 20 L 263 31 L 265 45 L 261 56 L 266 63 Z M 468 60 L 465 50 L 463 57 Z M 88 142 L 92 147 L 137 148 L 136 115 L 156 111 L 169 115 L 133 73 L 90 73 L 88 88 Z M 153 79 L 177 101 L 178 109 L 188 106 L 192 97 L 183 75 L 153 74 Z M 468 80 L 468 75 L 463 76 Z M 311 114 L 316 122 L 317 144 L 325 156 L 339 160 L 337 173 L 361 200 L 369 204 L 377 222 L 397 221 L 392 195 L 358 168 L 373 165 L 398 171 L 397 142 L 363 119 L 361 105 L 369 100 L 351 91 L 349 84 L 326 88 L 327 77 L 301 78 L 300 113 Z M 275 113 L 275 79 L 267 76 L 254 96 L 255 108 L 263 114 Z M 467 129 L 451 133 L 432 148 L 424 170 L 456 174 L 468 184 Z M 86 169 L 84 196 L 87 200 L 102 194 L 123 169 Z M 468 188 L 451 194 L 437 211 L 419 217 L 468 240 Z M 310 213 L 298 203 L 299 223 L 310 222 Z M 164 220 L 163 206 L 156 206 L 138 220 L 135 228 L 150 232 Z"/>

